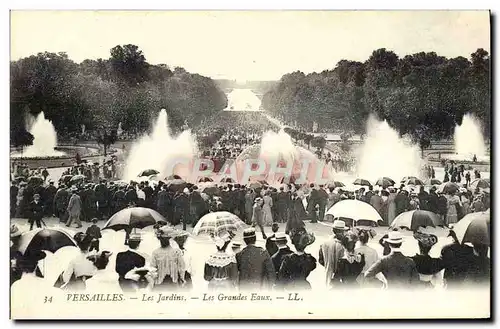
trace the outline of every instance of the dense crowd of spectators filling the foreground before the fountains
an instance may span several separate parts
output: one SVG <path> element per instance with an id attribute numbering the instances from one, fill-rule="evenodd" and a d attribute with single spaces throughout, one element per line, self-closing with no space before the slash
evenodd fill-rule
<path id="1" fill-rule="evenodd" d="M 252 131 L 226 133 L 207 155 L 236 157 L 247 145 L 258 141 L 258 134 Z M 335 155 L 325 158 L 335 162 L 332 160 Z M 382 217 L 381 225 L 386 226 L 409 210 L 434 212 L 445 226 L 451 226 L 470 212 L 489 209 L 489 193 L 471 190 L 470 180 L 466 178 L 470 172 L 453 164 L 446 168 L 446 175 L 452 178 L 459 175 L 466 183 L 449 191 L 436 186 L 426 191 L 424 186 L 405 184 L 399 187 L 358 186 L 355 190 L 314 183 L 290 183 L 280 187 L 265 182 L 241 185 L 231 181 L 203 181 L 193 184 L 174 176 L 158 182 L 147 178 L 122 182 L 115 180 L 116 166 L 116 159 L 106 160 L 102 165 L 75 164 L 63 173 L 57 186 L 54 181 L 47 182 L 48 172 L 44 168 L 32 171 L 20 166 L 16 169 L 16 176 L 25 179 L 12 180 L 11 217 L 28 218 L 30 229 L 34 225 L 42 227 L 43 219 L 52 216 L 66 226 L 76 224 L 77 228 L 82 227 L 82 221 L 93 223 L 86 232 L 74 236 L 81 255 L 61 274 L 61 288 L 89 290 L 101 287 L 105 281 L 124 292 L 192 289 L 192 258 L 185 248 L 189 235 L 183 232 L 188 225 L 194 227 L 205 214 L 217 211 L 231 212 L 252 228 L 243 232 L 244 248 L 233 240 L 234 232 L 213 236 L 217 251 L 206 260 L 203 273 L 210 289 L 310 289 L 307 277 L 318 266 L 324 267 L 325 282 L 331 288 L 434 287 L 433 277 L 443 270 L 448 286 L 489 282 L 488 246 L 460 244 L 452 230 L 454 243 L 444 247 L 439 258 L 429 256 L 429 250 L 437 242 L 436 236 L 419 231 L 413 232 L 419 254 L 403 255 L 400 249 L 403 238 L 397 230 L 380 239 L 384 248 L 384 257 L 380 257 L 368 246 L 373 238 L 369 229 L 358 229 L 333 218 L 332 238 L 321 245 L 318 255 L 306 252 L 315 242 L 315 236 L 306 230 L 305 222 L 329 220 L 327 210 L 346 199 L 370 204 Z M 432 167 L 427 170 L 430 176 L 434 175 Z M 477 173 L 475 175 L 478 177 Z M 30 179 L 39 176 L 42 179 Z M 455 177 L 455 181 L 462 179 Z M 103 273 L 112 252 L 99 250 L 98 223 L 136 206 L 156 210 L 170 225 L 155 227 L 160 247 L 151 255 L 138 252 L 142 237 L 128 232 L 125 241 L 128 250 L 116 255 L 114 277 L 110 278 Z M 182 231 L 172 229 L 178 224 L 183 225 Z M 271 236 L 266 235 L 266 226 L 271 227 Z M 282 232 L 279 232 L 280 227 Z M 256 246 L 258 234 L 266 241 L 265 248 Z M 24 255 L 16 252 L 20 235 L 19 228 L 12 226 L 13 289 L 21 286 L 16 282 L 25 277 L 30 278 L 28 282 L 32 284 L 33 278 L 40 276 L 38 261 L 45 257 L 43 252 Z M 289 241 L 294 251 L 288 246 Z M 230 245 L 231 250 L 228 250 Z"/>

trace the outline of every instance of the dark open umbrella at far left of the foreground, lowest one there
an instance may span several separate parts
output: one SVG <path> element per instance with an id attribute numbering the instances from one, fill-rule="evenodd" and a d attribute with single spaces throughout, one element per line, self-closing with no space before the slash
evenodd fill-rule
<path id="1" fill-rule="evenodd" d="M 77 247 L 75 240 L 63 230 L 44 228 L 31 230 L 21 235 L 18 251 L 24 254 L 26 251 L 33 252 L 47 250 L 56 252 L 62 247 Z"/>

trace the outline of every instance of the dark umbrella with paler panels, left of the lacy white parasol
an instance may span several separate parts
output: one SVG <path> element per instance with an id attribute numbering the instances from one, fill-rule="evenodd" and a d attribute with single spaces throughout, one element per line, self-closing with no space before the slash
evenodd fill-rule
<path id="1" fill-rule="evenodd" d="M 120 210 L 106 222 L 103 230 L 115 231 L 126 228 L 145 228 L 156 223 L 167 224 L 167 220 L 158 212 L 149 208 L 131 207 Z"/>

